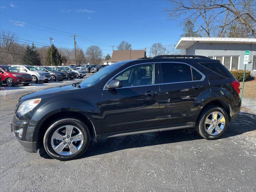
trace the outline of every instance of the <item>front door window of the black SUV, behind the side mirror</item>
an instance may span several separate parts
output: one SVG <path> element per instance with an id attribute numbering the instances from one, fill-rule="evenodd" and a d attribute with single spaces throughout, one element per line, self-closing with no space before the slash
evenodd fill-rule
<path id="1" fill-rule="evenodd" d="M 154 66 L 154 64 L 136 65 L 128 68 L 114 79 L 122 81 L 123 87 L 152 85 L 154 84 Z"/>

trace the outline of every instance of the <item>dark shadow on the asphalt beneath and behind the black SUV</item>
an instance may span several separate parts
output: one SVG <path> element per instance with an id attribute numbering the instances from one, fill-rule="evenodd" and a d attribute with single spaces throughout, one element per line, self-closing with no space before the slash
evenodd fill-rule
<path id="1" fill-rule="evenodd" d="M 229 124 L 229 127 L 221 138 L 229 138 L 241 135 L 245 132 L 256 130 L 256 115 L 241 112 L 238 118 Z M 106 138 L 90 144 L 88 150 L 80 158 L 88 158 L 100 154 L 106 154 L 118 150 L 129 148 L 140 148 L 145 146 L 162 145 L 169 143 L 178 143 L 188 140 L 202 139 L 194 129 L 173 130 L 165 132 L 154 132 L 147 134 L 137 134 L 131 136 L 122 136 L 116 138 Z M 39 150 L 43 158 L 51 158 L 46 154 L 44 148 Z"/>

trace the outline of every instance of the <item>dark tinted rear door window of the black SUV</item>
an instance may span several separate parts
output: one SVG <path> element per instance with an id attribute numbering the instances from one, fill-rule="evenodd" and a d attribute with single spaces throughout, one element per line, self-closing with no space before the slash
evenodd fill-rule
<path id="1" fill-rule="evenodd" d="M 163 83 L 192 81 L 190 66 L 183 63 L 162 63 Z"/>

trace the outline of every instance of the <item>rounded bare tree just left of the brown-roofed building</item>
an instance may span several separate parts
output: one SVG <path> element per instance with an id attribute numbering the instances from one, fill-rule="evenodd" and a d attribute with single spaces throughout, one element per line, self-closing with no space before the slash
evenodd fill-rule
<path id="1" fill-rule="evenodd" d="M 99 64 L 102 60 L 102 50 L 100 47 L 92 45 L 86 49 L 86 58 L 93 64 Z"/>

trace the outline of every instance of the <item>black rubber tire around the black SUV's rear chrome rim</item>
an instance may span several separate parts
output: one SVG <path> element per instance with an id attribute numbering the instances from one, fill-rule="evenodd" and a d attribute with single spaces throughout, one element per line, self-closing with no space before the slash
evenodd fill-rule
<path id="1" fill-rule="evenodd" d="M 225 118 L 225 125 L 224 125 L 224 128 L 222 129 L 222 131 L 217 134 L 217 135 L 211 135 L 209 134 L 207 131 L 206 131 L 206 128 L 205 128 L 205 121 L 206 121 L 206 118 L 212 113 L 212 112 L 220 112 L 224 115 L 224 118 Z M 209 106 L 207 108 L 204 108 L 202 110 L 202 112 L 200 113 L 200 116 L 198 117 L 198 121 L 197 121 L 197 124 L 196 124 L 196 131 L 198 132 L 198 134 L 202 137 L 202 138 L 205 138 L 205 139 L 208 139 L 208 140 L 214 140 L 214 139 L 218 139 L 220 138 L 227 130 L 228 128 L 228 114 L 226 113 L 226 111 L 221 108 L 221 107 L 218 107 L 218 106 Z"/>

